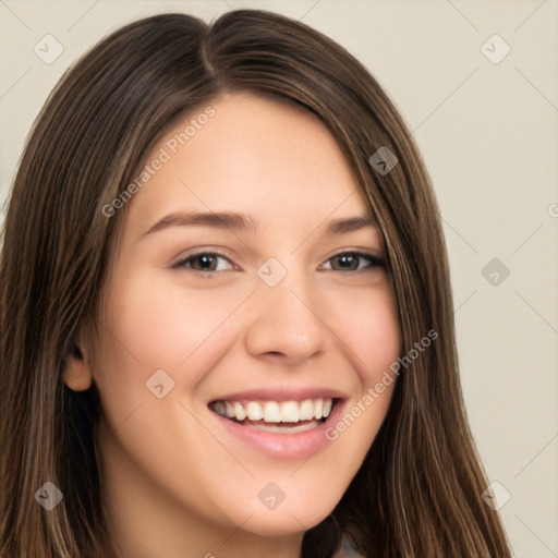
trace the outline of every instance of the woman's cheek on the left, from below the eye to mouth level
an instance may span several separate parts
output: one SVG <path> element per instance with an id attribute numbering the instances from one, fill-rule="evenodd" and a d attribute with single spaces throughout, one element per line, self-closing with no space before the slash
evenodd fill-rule
<path id="1" fill-rule="evenodd" d="M 186 403 L 196 400 L 198 384 L 231 344 L 234 312 L 250 294 L 246 288 L 226 291 L 219 296 L 211 289 L 185 294 L 179 281 L 161 288 L 149 272 L 113 279 L 100 371 L 95 373 L 112 427 L 151 402 L 149 389 L 161 383 L 163 392 L 171 393 L 165 400 L 178 393 Z"/>

